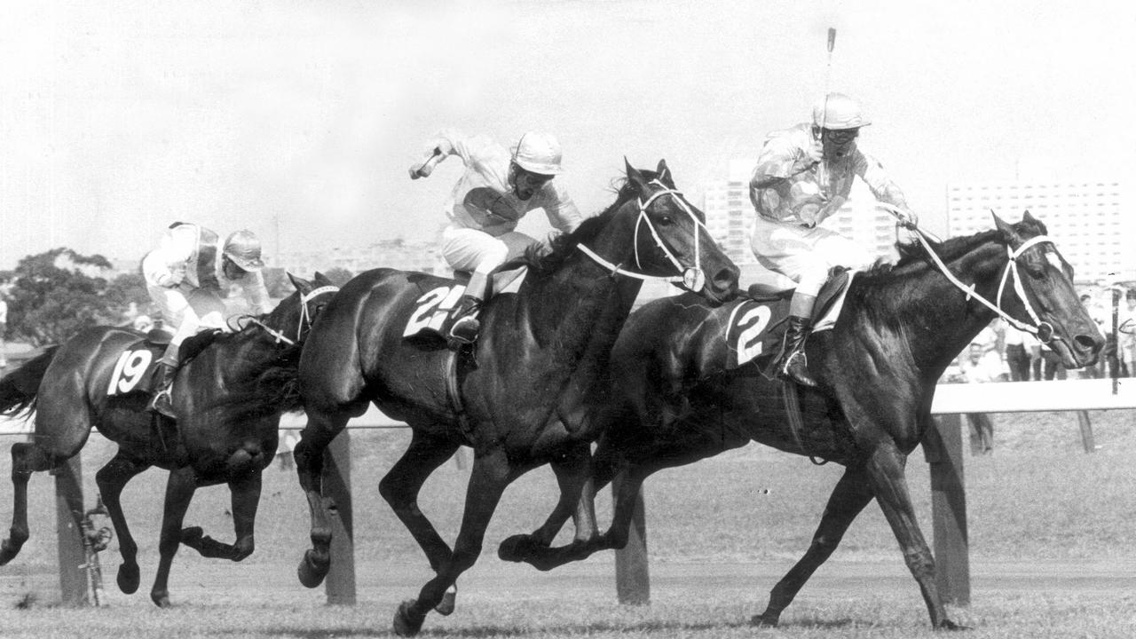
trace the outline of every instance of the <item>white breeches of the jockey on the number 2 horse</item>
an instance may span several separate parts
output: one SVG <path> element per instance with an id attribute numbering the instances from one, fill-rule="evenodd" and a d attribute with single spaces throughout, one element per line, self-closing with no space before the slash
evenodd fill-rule
<path id="1" fill-rule="evenodd" d="M 863 268 L 876 259 L 835 231 L 783 224 L 760 215 L 753 225 L 750 248 L 762 266 L 793 280 L 797 292 L 810 296 L 820 292 L 834 266 Z"/>

